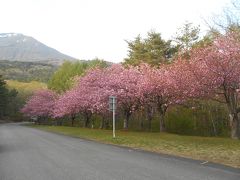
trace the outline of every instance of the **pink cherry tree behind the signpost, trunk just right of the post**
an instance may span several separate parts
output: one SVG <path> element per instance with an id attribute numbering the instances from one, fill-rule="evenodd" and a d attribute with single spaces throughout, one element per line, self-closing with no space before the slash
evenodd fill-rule
<path id="1" fill-rule="evenodd" d="M 86 95 L 84 99 L 91 112 L 102 116 L 108 113 L 109 96 L 116 96 L 117 107 L 125 116 L 124 129 L 127 129 L 129 118 L 138 105 L 140 95 L 137 83 L 140 75 L 136 68 L 125 68 L 119 64 L 106 69 L 94 69 L 78 79 L 76 91 L 79 97 Z M 80 101 L 83 105 L 83 99 Z"/>

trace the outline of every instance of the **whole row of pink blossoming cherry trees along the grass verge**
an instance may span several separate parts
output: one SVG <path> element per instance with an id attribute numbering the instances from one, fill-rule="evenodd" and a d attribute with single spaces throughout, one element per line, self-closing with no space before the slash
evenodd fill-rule
<path id="1" fill-rule="evenodd" d="M 90 69 L 84 76 L 76 77 L 75 86 L 60 95 L 51 90 L 35 93 L 22 112 L 28 116 L 68 116 L 72 122 L 77 114 L 82 114 L 85 126 L 89 125 L 93 114 L 98 114 L 103 117 L 104 124 L 108 97 L 114 95 L 118 99 L 118 111 L 124 114 L 124 129 L 128 128 L 129 119 L 136 111 L 147 112 L 147 120 L 151 124 L 152 109 L 156 109 L 159 129 L 165 131 L 165 114 L 169 107 L 210 98 L 227 104 L 231 137 L 239 138 L 239 37 L 238 32 L 230 31 L 219 35 L 211 43 L 184 48 L 174 55 L 173 63 L 141 64 L 144 59 L 138 57 L 133 58 L 134 66 L 125 63 Z M 133 59 L 130 56 L 126 62 L 133 62 Z M 139 63 L 136 63 L 137 59 Z"/>

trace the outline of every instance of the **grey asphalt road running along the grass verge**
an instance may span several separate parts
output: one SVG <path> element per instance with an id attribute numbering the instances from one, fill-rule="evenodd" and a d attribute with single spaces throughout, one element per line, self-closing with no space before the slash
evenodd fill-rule
<path id="1" fill-rule="evenodd" d="M 0 125 L 0 180 L 240 180 L 240 170 Z"/>

